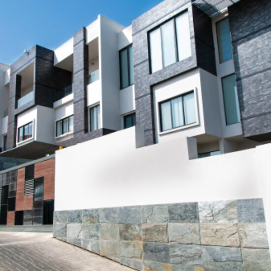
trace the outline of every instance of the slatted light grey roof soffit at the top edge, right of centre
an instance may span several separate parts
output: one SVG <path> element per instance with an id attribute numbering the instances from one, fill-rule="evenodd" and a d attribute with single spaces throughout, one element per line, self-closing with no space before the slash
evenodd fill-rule
<path id="1" fill-rule="evenodd" d="M 228 6 L 231 6 L 239 1 L 240 0 L 192 0 L 195 6 L 210 17 L 221 13 Z"/>

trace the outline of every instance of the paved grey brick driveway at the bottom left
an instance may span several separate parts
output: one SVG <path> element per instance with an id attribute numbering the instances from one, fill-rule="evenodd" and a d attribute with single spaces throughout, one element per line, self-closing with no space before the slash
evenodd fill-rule
<path id="1" fill-rule="evenodd" d="M 133 271 L 52 233 L 0 232 L 0 271 Z"/>

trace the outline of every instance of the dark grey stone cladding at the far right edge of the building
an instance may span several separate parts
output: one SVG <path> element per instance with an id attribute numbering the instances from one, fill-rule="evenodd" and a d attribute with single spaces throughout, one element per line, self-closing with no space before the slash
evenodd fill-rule
<path id="1" fill-rule="evenodd" d="M 271 1 L 240 1 L 229 8 L 244 137 L 271 139 Z"/>

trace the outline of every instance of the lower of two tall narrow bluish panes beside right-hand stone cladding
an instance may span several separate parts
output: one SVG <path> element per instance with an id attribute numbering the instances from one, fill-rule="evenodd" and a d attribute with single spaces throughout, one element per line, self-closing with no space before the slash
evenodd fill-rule
<path id="1" fill-rule="evenodd" d="M 240 122 L 240 111 L 237 98 L 235 75 L 222 78 L 224 108 L 227 125 Z"/>

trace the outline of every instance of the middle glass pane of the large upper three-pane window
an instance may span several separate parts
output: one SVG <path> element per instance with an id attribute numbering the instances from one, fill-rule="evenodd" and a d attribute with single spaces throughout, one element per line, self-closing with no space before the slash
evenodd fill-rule
<path id="1" fill-rule="evenodd" d="M 174 21 L 171 20 L 161 27 L 164 67 L 176 62 L 173 22 Z"/>

